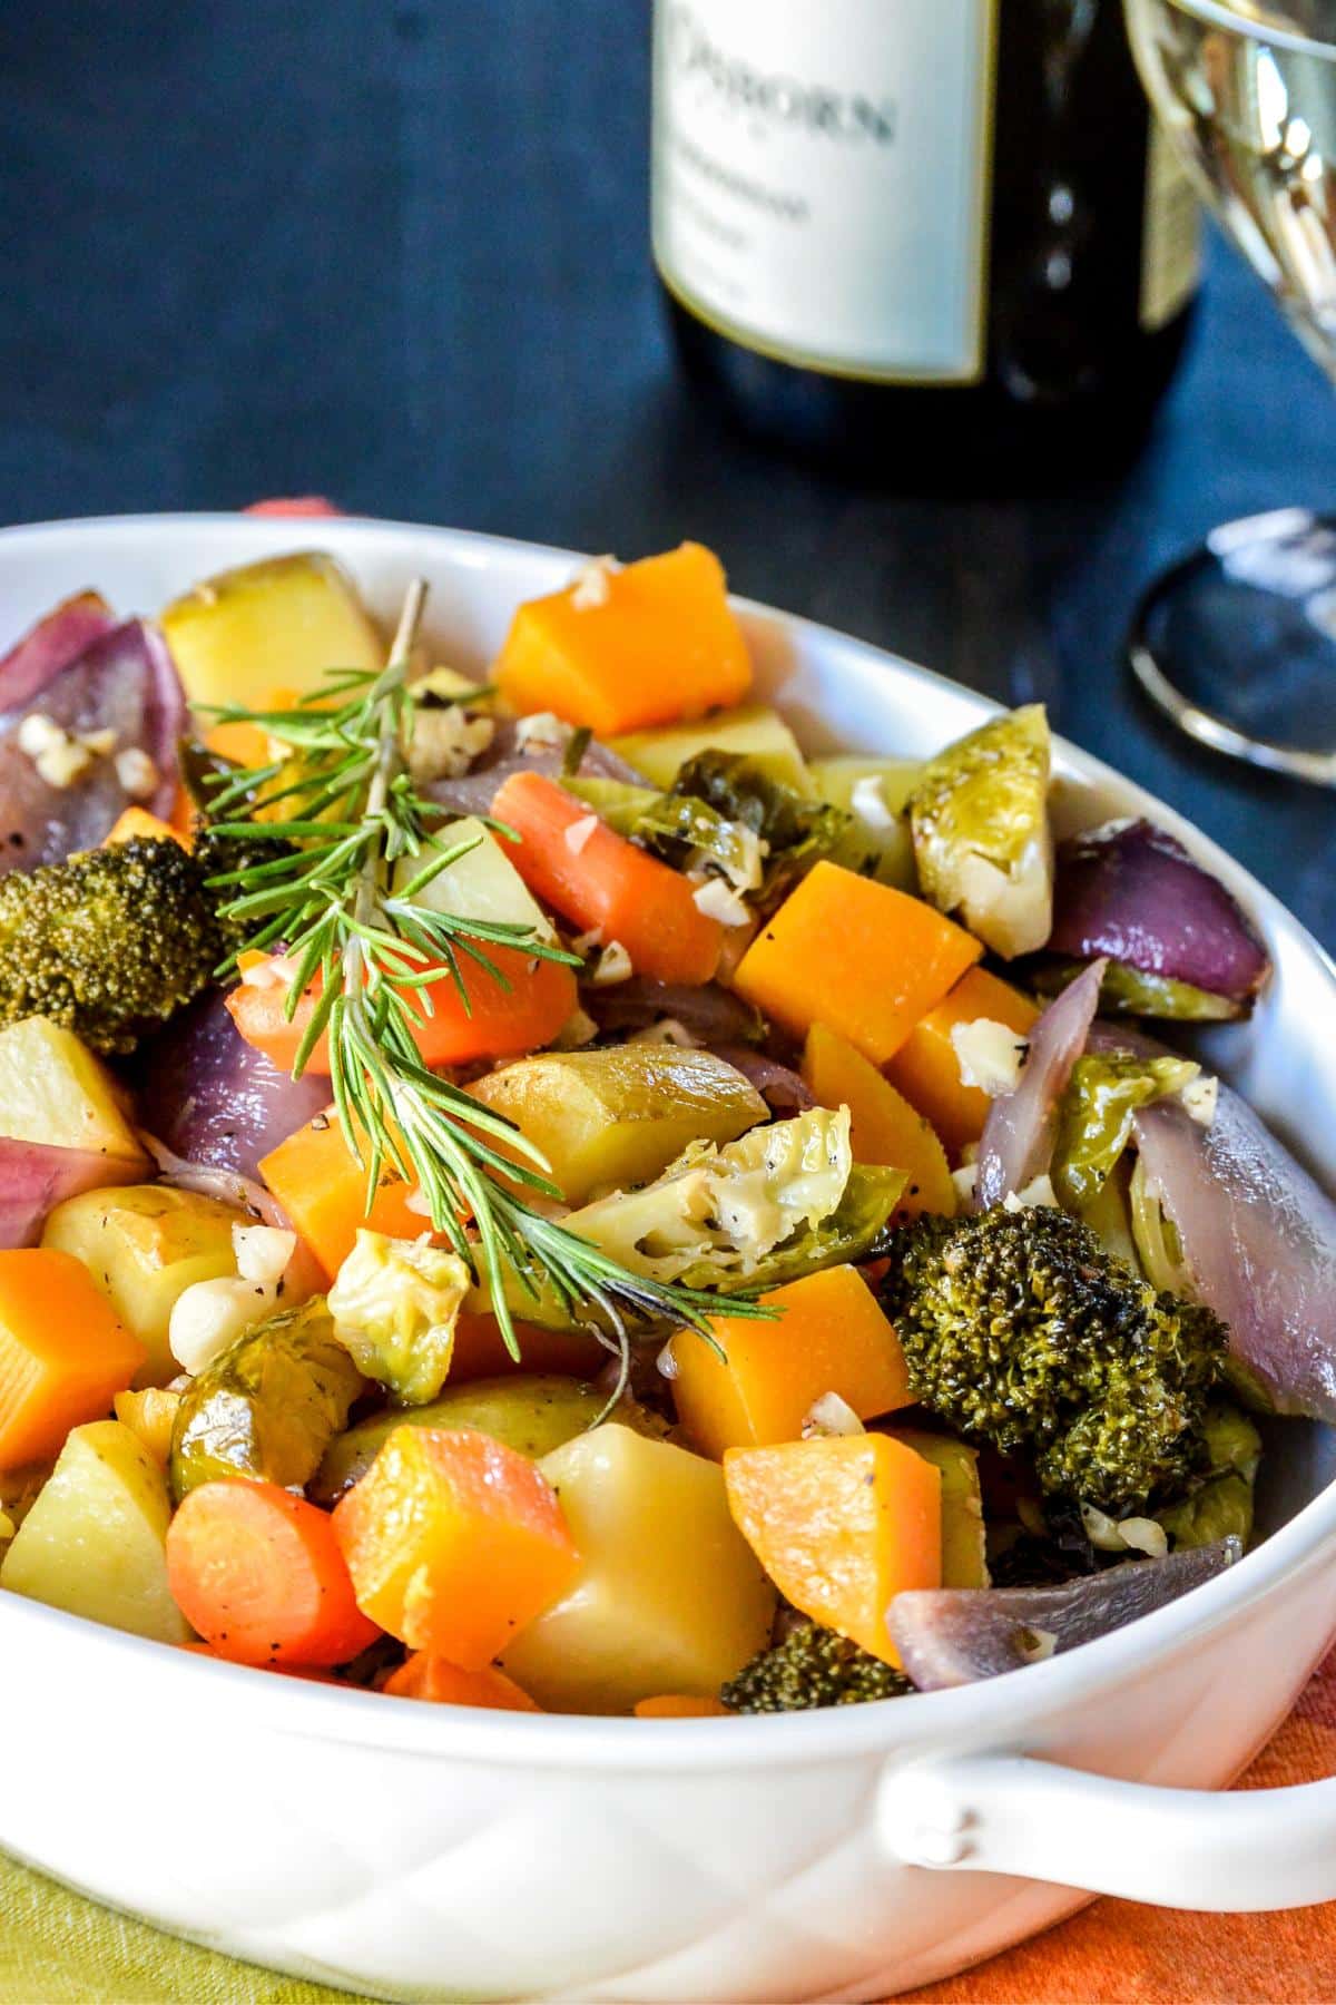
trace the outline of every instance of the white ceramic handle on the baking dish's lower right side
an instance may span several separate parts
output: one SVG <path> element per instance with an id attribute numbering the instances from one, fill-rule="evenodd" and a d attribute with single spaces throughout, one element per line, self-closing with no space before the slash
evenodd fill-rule
<path id="1" fill-rule="evenodd" d="M 893 1859 L 943 1873 L 1216 1913 L 1336 1899 L 1336 1780 L 1218 1794 L 973 1754 L 889 1766 L 877 1823 Z"/>

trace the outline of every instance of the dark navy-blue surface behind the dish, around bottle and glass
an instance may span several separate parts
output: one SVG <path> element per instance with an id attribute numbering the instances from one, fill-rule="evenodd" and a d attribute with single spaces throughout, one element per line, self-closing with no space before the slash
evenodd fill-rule
<path id="1" fill-rule="evenodd" d="M 1120 660 L 1138 587 L 1214 521 L 1336 501 L 1336 403 L 1258 283 L 1212 247 L 1120 481 L 929 501 L 775 461 L 711 425 L 665 341 L 647 14 L 4 8 L 0 521 L 314 489 L 621 555 L 691 533 L 741 591 L 1046 698 L 1336 944 L 1336 800 L 1174 740 Z"/>

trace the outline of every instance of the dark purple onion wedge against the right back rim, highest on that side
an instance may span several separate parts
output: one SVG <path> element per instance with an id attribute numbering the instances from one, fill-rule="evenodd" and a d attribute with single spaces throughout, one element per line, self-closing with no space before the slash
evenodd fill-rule
<path id="1" fill-rule="evenodd" d="M 1108 954 L 1142 974 L 1248 1005 L 1266 946 L 1220 878 L 1152 822 L 1110 822 L 1058 850 L 1050 954 Z"/>

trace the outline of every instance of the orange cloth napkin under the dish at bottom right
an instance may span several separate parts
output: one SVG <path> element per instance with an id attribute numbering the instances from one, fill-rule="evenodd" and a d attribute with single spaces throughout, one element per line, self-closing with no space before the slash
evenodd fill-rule
<path id="1" fill-rule="evenodd" d="M 1240 1788 L 1336 1774 L 1336 1650 Z M 1180 1915 L 1096 1901 L 1001 1957 L 895 2005 L 1332 2005 L 1336 1901 L 1284 1915 Z"/>

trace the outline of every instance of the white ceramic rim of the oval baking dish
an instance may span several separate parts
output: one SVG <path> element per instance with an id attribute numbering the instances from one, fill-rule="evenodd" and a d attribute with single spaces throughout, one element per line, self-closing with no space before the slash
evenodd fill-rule
<path id="1" fill-rule="evenodd" d="M 549 543 L 531 543 L 523 537 L 487 535 L 475 529 L 443 529 L 431 523 L 391 521 L 383 517 L 341 515 L 326 519 L 260 517 L 224 511 L 210 513 L 170 513 L 170 515 L 90 515 L 60 521 L 18 523 L 0 529 L 0 547 L 10 547 L 16 539 L 40 533 L 116 531 L 170 533 L 196 529 L 222 529 L 234 523 L 244 527 L 246 537 L 268 541 L 262 529 L 284 531 L 300 541 L 318 539 L 320 531 L 343 537 L 355 535 L 421 535 L 439 537 L 443 543 L 461 547 L 485 563 L 487 553 L 509 553 L 511 557 L 543 557 L 569 561 L 571 567 L 587 561 L 581 551 L 559 549 Z M 240 553 L 238 553 L 238 561 Z M 853 646 L 871 664 L 887 664 L 911 674 L 929 690 L 949 692 L 953 698 L 965 694 L 979 710 L 995 710 L 987 698 L 965 690 L 935 670 L 905 662 L 885 648 L 855 640 L 837 628 L 783 614 L 779 608 L 761 606 L 755 599 L 735 597 L 741 612 L 765 620 L 781 620 L 785 628 L 807 634 L 815 642 L 837 642 Z M 1240 864 L 1222 852 L 1210 838 L 1186 822 L 1154 794 L 1138 788 L 1114 768 L 1090 758 L 1070 740 L 1058 738 L 1056 750 L 1062 766 L 1080 780 L 1116 786 L 1128 796 L 1128 808 L 1154 812 L 1158 820 L 1176 832 L 1190 832 L 1198 856 L 1206 864 L 1224 868 L 1234 878 L 1236 888 L 1254 902 L 1258 910 L 1284 914 L 1288 926 L 1296 928 L 1314 960 L 1324 968 L 1336 998 L 1336 962 L 1318 940 L 1286 910 L 1286 906 L 1256 882 Z M 497 1714 L 469 1706 L 425 1706 L 387 1704 L 381 1694 L 359 1690 L 339 1690 L 332 1684 L 302 1684 L 298 1678 L 258 1676 L 240 1664 L 210 1662 L 200 1656 L 172 1650 L 170 1646 L 130 1636 L 124 1630 L 104 1628 L 82 1616 L 72 1616 L 20 1596 L 0 1594 L 0 1640 L 32 1648 L 68 1646 L 78 1638 L 78 1648 L 92 1652 L 132 1652 L 138 1658 L 138 1676 L 192 1676 L 226 1680 L 228 1702 L 242 1704 L 262 1716 L 268 1728 L 302 1734 L 304 1738 L 347 1740 L 359 1746 L 393 1746 L 417 1750 L 423 1756 L 455 1756 L 469 1760 L 525 1762 L 541 1768 L 581 1768 L 607 1766 L 619 1770 L 701 1770 L 719 1766 L 805 1766 L 813 1758 L 877 1754 L 885 1750 L 887 1732 L 897 1748 L 907 1752 L 915 1742 L 939 1750 L 943 1738 L 959 1736 L 961 1746 L 987 1744 L 1004 1746 L 1010 1734 L 1024 1738 L 1024 1728 L 1036 1718 L 1056 1714 L 1068 1706 L 1098 1698 L 1104 1690 L 1118 1686 L 1134 1672 L 1144 1672 L 1156 1656 L 1166 1656 L 1172 1648 L 1216 1634 L 1236 1618 L 1236 1614 L 1262 1598 L 1282 1580 L 1310 1566 L 1336 1536 L 1336 1484 L 1328 1484 L 1280 1530 L 1236 1566 L 1196 1588 L 1180 1602 L 1170 1602 L 1154 1614 L 1096 1642 L 1082 1644 L 1064 1656 L 1030 1664 L 1024 1672 L 1010 1672 L 979 1684 L 957 1686 L 945 1692 L 915 1692 L 905 1698 L 881 1700 L 863 1706 L 839 1706 L 831 1710 L 799 1712 L 783 1716 L 735 1716 L 721 1724 L 705 1720 L 631 1720 L 621 1716 L 583 1714 Z M 222 1686 L 218 1686 L 222 1692 Z"/>

